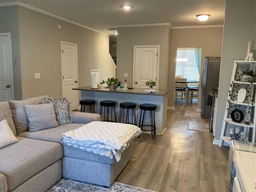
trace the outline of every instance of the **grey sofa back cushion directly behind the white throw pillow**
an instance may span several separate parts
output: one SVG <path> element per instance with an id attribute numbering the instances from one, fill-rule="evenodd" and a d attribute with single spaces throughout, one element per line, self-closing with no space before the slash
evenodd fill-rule
<path id="1" fill-rule="evenodd" d="M 9 127 L 11 128 L 14 136 L 16 136 L 16 129 L 12 120 L 12 112 L 8 102 L 0 102 L 0 121 L 6 120 Z"/>

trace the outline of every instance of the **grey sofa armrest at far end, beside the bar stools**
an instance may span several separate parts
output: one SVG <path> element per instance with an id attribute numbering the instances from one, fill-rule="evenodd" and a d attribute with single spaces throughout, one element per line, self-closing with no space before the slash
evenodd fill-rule
<path id="1" fill-rule="evenodd" d="M 73 117 L 72 122 L 73 123 L 81 123 L 81 124 L 87 124 L 92 121 L 100 121 L 100 114 L 95 113 L 83 113 L 83 112 L 76 112 L 72 111 Z"/>

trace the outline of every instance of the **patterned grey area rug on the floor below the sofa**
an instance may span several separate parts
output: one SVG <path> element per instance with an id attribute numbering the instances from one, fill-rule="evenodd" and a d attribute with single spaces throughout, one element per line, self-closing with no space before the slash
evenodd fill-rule
<path id="1" fill-rule="evenodd" d="M 48 192 L 155 192 L 131 185 L 114 182 L 110 188 L 98 186 L 86 182 L 61 179 L 52 186 Z"/>

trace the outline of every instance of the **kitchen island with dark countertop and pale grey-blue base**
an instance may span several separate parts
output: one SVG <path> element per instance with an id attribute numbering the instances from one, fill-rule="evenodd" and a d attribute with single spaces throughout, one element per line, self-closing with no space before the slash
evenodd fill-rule
<path id="1" fill-rule="evenodd" d="M 156 134 L 162 135 L 166 128 L 167 118 L 167 89 L 158 89 L 156 93 L 146 93 L 145 88 L 132 88 L 128 90 L 114 90 L 110 91 L 109 88 L 101 86 L 98 89 L 92 89 L 90 86 L 73 88 L 73 90 L 81 91 L 82 99 L 94 99 L 96 100 L 95 112 L 100 113 L 100 101 L 102 100 L 113 100 L 116 101 L 116 115 L 117 120 L 119 118 L 120 107 L 119 104 L 122 102 L 134 102 L 136 103 L 136 117 L 137 125 L 139 123 L 139 105 L 143 103 L 155 104 L 157 106 L 156 114 Z M 88 110 L 88 109 L 87 109 Z M 145 124 L 150 124 L 150 113 L 146 112 Z M 145 127 L 146 128 L 146 127 Z M 150 127 L 148 127 L 150 128 Z M 148 132 L 151 133 L 151 132 Z"/>

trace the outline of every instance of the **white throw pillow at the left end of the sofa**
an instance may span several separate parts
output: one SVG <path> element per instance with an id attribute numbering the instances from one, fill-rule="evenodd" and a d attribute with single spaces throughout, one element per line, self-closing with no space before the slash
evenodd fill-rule
<path id="1" fill-rule="evenodd" d="M 7 121 L 0 121 L 0 148 L 18 142 Z"/>

